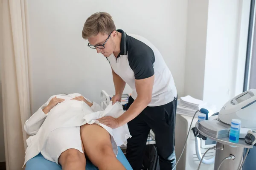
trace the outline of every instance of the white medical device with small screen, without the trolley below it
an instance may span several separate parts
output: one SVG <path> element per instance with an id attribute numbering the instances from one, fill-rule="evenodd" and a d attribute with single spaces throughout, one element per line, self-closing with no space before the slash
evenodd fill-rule
<path id="1" fill-rule="evenodd" d="M 241 120 L 240 138 L 244 138 L 247 131 L 256 128 L 256 89 L 245 91 L 230 99 L 213 121 L 202 121 L 198 124 L 203 133 L 213 138 L 229 136 L 232 119 Z"/>

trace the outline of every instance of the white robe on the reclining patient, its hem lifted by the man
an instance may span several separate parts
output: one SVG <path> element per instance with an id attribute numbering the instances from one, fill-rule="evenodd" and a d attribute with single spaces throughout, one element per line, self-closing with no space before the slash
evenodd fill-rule
<path id="1" fill-rule="evenodd" d="M 116 129 L 111 129 L 106 125 L 100 124 L 99 121 L 96 120 L 104 116 L 113 116 L 117 118 L 122 115 L 124 111 L 119 102 L 116 102 L 114 105 L 112 105 L 111 102 L 105 111 L 101 111 L 102 109 L 95 102 L 93 102 L 93 106 L 90 108 L 84 102 L 70 100 L 76 96 L 81 96 L 81 94 L 57 95 L 57 98 L 65 99 L 66 101 L 59 103 L 52 108 L 49 113 L 44 114 L 42 109 L 46 107 L 49 101 L 55 96 L 56 95 L 51 96 L 47 103 L 39 108 L 24 125 L 26 132 L 29 135 L 32 135 L 27 139 L 28 147 L 26 149 L 24 165 L 29 159 L 32 159 L 41 152 L 49 134 L 59 127 L 77 127 L 86 123 L 96 123 L 111 134 L 113 151 L 116 155 L 118 152 L 117 146 L 126 144 L 127 139 L 131 137 L 127 124 Z"/>

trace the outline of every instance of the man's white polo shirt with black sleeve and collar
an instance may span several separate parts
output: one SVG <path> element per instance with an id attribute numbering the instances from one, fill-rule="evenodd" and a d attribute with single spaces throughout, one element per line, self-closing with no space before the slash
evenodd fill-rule
<path id="1" fill-rule="evenodd" d="M 160 106 L 172 102 L 177 90 L 162 55 L 151 42 L 144 37 L 126 34 L 122 30 L 121 51 L 116 58 L 108 57 L 113 71 L 133 90 L 131 96 L 136 99 L 135 79 L 145 79 L 154 75 L 151 103 L 148 106 Z M 146 86 L 146 85 L 145 85 Z"/>

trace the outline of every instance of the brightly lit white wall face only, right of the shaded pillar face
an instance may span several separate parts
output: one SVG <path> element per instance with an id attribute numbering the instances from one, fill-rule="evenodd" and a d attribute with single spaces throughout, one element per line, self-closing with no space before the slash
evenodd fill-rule
<path id="1" fill-rule="evenodd" d="M 209 0 L 204 100 L 221 108 L 235 93 L 239 0 Z"/>

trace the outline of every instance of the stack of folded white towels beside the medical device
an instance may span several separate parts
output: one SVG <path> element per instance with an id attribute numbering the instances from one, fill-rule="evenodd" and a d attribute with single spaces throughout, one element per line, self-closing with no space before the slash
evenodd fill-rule
<path id="1" fill-rule="evenodd" d="M 201 108 L 206 108 L 207 110 L 209 110 L 209 106 L 207 107 L 207 103 L 199 100 L 199 99 L 195 99 L 191 96 L 185 96 L 185 97 L 180 97 L 180 100 L 178 102 L 177 105 L 177 114 L 181 114 L 181 115 L 185 115 L 185 116 L 191 116 L 193 117 L 195 112 L 200 110 Z M 211 114 L 209 110 L 209 114 Z M 196 114 L 195 117 L 198 114 Z"/>

